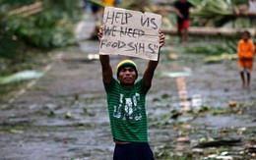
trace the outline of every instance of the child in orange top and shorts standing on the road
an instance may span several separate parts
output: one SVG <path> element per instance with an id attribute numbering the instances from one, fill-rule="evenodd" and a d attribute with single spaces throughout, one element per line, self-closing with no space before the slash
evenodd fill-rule
<path id="1" fill-rule="evenodd" d="M 238 53 L 238 65 L 240 68 L 240 76 L 242 80 L 242 85 L 245 88 L 250 86 L 251 71 L 253 67 L 254 51 L 255 47 L 253 41 L 250 39 L 251 34 L 249 31 L 243 31 L 242 38 L 237 44 Z M 247 80 L 245 80 L 245 74 Z"/>

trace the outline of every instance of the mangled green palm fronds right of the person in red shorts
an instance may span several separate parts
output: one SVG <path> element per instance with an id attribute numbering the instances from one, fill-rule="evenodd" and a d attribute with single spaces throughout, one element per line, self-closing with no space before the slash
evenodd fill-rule
<path id="1" fill-rule="evenodd" d="M 240 18 L 247 20 L 248 16 L 256 17 L 256 13 L 249 13 L 246 0 L 191 0 L 191 3 L 197 6 L 191 14 L 192 18 L 204 27 L 224 27 Z"/>

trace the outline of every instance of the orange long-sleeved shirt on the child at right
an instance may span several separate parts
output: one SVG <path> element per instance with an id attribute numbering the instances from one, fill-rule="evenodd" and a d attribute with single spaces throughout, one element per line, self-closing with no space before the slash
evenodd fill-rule
<path id="1" fill-rule="evenodd" d="M 254 44 L 251 39 L 245 42 L 243 39 L 239 40 L 237 46 L 238 57 L 253 58 L 254 56 Z"/>

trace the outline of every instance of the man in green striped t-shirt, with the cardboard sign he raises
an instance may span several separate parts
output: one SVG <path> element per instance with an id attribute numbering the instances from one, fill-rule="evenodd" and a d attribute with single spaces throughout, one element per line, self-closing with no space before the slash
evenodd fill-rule
<path id="1" fill-rule="evenodd" d="M 112 8 L 114 9 L 114 8 Z M 154 77 L 155 70 L 159 64 L 159 52 L 160 47 L 164 44 L 164 35 L 157 29 L 158 34 L 154 33 L 152 29 L 159 28 L 159 24 L 154 23 L 156 21 L 155 18 L 149 18 L 149 31 L 144 28 L 136 27 L 136 24 L 133 24 L 135 27 L 126 26 L 130 19 L 134 16 L 133 13 L 125 10 L 124 12 L 120 12 L 120 9 L 117 9 L 118 12 L 113 15 L 108 15 L 108 18 L 104 15 L 104 27 L 100 27 L 98 31 L 98 38 L 100 39 L 99 48 L 107 48 L 109 47 L 114 54 L 119 54 L 118 52 L 123 52 L 122 55 L 127 56 L 127 52 L 130 56 L 150 59 L 148 63 L 148 67 L 144 72 L 143 78 L 137 80 L 138 78 L 138 70 L 137 65 L 131 60 L 123 60 L 116 67 L 116 76 L 117 80 L 113 78 L 113 71 L 110 65 L 109 55 L 110 52 L 106 49 L 105 51 L 99 51 L 99 61 L 102 69 L 102 80 L 104 84 L 104 88 L 107 96 L 107 104 L 108 104 L 108 114 L 110 119 L 110 127 L 113 136 L 113 140 L 115 142 L 114 149 L 114 160 L 152 160 L 154 159 L 153 151 L 148 143 L 148 123 L 147 123 L 147 114 L 146 114 L 146 94 L 148 93 L 152 80 Z M 107 13 L 108 10 L 105 10 Z M 133 11 L 132 11 L 133 12 Z M 117 16 L 118 15 L 118 16 Z M 122 24 L 122 27 L 112 27 L 109 33 L 110 36 L 123 36 L 118 40 L 107 39 L 104 36 L 108 36 L 106 31 L 108 28 L 105 25 L 106 19 L 109 19 L 110 24 L 114 24 L 116 22 Z M 147 21 L 142 23 L 146 24 Z M 151 22 L 151 23 L 150 23 Z M 154 23 L 153 23 L 154 22 Z M 128 32 L 121 33 L 120 29 L 125 30 L 127 27 Z M 119 28 L 119 29 L 118 29 Z M 131 29 L 130 29 L 131 28 Z M 130 30 L 130 31 L 129 31 Z M 143 31 L 142 31 L 143 30 Z M 144 35 L 145 38 L 142 38 Z M 129 48 L 129 39 L 125 39 L 126 36 L 131 36 L 138 38 L 142 43 L 141 46 L 138 44 L 138 48 L 134 49 L 134 53 L 129 52 L 127 50 L 127 46 Z M 148 38 L 147 37 L 151 37 Z M 158 44 L 156 44 L 156 41 Z M 139 42 L 139 41 L 137 41 Z M 134 43 L 137 43 L 134 41 Z M 107 44 L 109 43 L 109 44 Z M 152 44 L 156 45 L 156 48 L 149 49 L 147 45 Z M 143 46 L 144 45 L 144 46 Z M 122 46 L 122 47 L 121 47 Z M 125 49 L 126 48 L 126 49 Z M 155 49 L 158 49 L 156 51 Z M 136 53 L 137 52 L 137 53 Z M 147 53 L 151 52 L 151 53 Z M 153 56 L 149 56 L 153 54 Z M 156 56 L 157 54 L 157 56 Z M 156 59 L 157 57 L 157 59 Z M 151 58 L 153 60 L 151 60 Z M 137 81 L 136 81 L 137 80 Z"/>

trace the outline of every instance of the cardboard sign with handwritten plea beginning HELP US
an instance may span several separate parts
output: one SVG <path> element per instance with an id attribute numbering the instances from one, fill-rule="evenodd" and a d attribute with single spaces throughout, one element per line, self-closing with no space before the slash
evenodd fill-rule
<path id="1" fill-rule="evenodd" d="M 161 16 L 106 7 L 99 54 L 158 60 Z"/>

